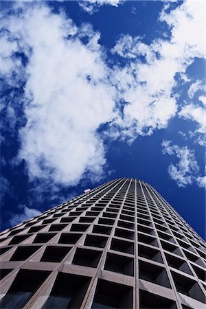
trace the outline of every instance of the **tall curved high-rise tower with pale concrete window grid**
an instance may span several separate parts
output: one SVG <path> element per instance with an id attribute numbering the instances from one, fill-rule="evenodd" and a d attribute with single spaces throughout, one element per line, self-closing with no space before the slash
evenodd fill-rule
<path id="1" fill-rule="evenodd" d="M 3 231 L 0 308 L 205 308 L 205 242 L 144 181 L 116 179 Z"/>

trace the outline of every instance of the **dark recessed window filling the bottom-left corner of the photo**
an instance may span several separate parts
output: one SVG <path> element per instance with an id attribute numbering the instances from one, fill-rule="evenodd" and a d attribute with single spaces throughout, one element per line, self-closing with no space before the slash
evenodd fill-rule
<path id="1" fill-rule="evenodd" d="M 23 308 L 36 290 L 47 279 L 49 271 L 27 271 L 21 269 L 8 293 L 1 299 L 0 308 Z"/>

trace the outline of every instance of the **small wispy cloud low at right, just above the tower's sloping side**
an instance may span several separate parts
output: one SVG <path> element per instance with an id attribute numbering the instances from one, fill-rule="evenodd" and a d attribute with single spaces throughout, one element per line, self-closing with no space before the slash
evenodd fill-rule
<path id="1" fill-rule="evenodd" d="M 171 179 L 176 181 L 179 187 L 185 187 L 192 183 L 196 183 L 199 187 L 204 186 L 205 176 L 198 175 L 199 167 L 194 150 L 190 150 L 187 146 L 181 148 L 168 140 L 163 140 L 161 146 L 164 155 L 168 154 L 179 159 L 176 165 L 171 163 L 168 167 Z"/>

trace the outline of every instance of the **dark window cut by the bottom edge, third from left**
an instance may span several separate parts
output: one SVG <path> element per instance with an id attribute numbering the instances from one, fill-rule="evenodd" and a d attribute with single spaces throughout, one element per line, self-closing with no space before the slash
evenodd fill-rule
<path id="1" fill-rule="evenodd" d="M 133 308 L 133 288 L 99 279 L 91 309 Z"/>

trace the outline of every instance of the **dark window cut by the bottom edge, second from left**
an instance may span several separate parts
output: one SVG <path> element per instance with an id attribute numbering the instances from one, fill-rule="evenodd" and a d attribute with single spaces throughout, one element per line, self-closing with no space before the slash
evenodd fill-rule
<path id="1" fill-rule="evenodd" d="M 52 292 L 42 309 L 80 308 L 91 278 L 58 273 Z"/>

